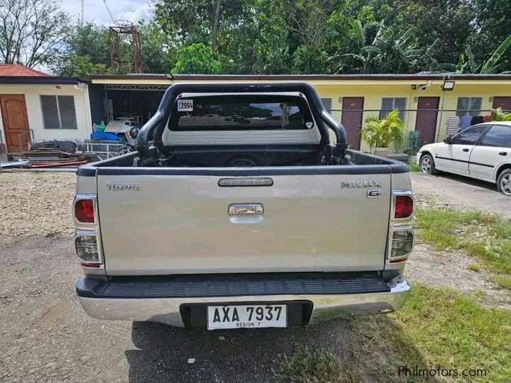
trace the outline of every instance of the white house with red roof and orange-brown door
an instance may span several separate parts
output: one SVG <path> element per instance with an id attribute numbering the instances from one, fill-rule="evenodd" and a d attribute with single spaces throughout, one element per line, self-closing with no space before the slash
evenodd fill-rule
<path id="1" fill-rule="evenodd" d="M 0 152 L 29 140 L 84 140 L 92 133 L 89 88 L 21 65 L 0 65 Z"/>

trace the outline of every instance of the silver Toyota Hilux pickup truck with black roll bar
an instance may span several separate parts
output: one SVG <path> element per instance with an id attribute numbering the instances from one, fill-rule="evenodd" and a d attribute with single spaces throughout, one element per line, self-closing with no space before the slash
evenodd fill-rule
<path id="1" fill-rule="evenodd" d="M 175 84 L 136 146 L 77 172 L 90 316 L 287 327 L 405 302 L 408 167 L 349 150 L 310 85 Z"/>

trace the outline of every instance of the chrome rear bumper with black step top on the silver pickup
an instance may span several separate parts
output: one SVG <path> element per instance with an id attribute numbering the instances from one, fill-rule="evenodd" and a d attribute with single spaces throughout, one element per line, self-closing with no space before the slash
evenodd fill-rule
<path id="1" fill-rule="evenodd" d="M 85 278 L 77 282 L 80 304 L 92 318 L 152 321 L 180 327 L 189 326 L 183 320 L 184 306 L 204 304 L 307 302 L 312 306 L 312 313 L 301 324 L 343 316 L 388 313 L 400 309 L 410 288 L 402 276 L 385 283 L 370 274 L 351 278 L 344 274 L 326 277 L 294 275 L 248 282 L 239 277 L 199 282 L 180 278 L 170 284 L 148 284 L 145 281 L 104 283 Z M 181 296 L 176 296 L 178 290 Z"/>

